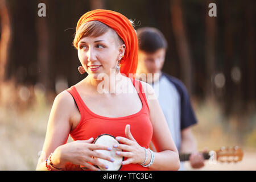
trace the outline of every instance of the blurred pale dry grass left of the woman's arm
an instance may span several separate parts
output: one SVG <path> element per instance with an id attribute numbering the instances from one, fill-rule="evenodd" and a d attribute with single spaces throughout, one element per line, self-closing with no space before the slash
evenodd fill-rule
<path id="1" fill-rule="evenodd" d="M 9 84 L 5 90 L 9 92 L 2 92 L 5 100 L 0 102 L 0 170 L 34 170 L 51 107 L 43 95 L 36 96 L 34 103 L 23 102 L 12 92 L 19 88 Z"/>

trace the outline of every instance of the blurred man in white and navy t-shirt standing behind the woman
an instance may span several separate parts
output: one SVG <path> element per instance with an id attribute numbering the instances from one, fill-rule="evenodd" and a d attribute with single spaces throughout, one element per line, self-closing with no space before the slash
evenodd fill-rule
<path id="1" fill-rule="evenodd" d="M 204 166 L 204 158 L 197 151 L 196 139 L 191 131 L 192 125 L 195 125 L 197 120 L 187 89 L 183 82 L 162 72 L 168 47 L 167 41 L 162 32 L 152 27 L 139 28 L 137 35 L 139 42 L 137 76 L 152 74 L 147 76 L 147 83 L 155 89 L 179 153 L 191 153 L 189 156 L 191 167 L 201 168 Z M 156 74 L 158 76 L 154 75 L 155 73 L 158 73 Z M 184 163 L 180 166 L 180 170 L 185 169 Z"/>

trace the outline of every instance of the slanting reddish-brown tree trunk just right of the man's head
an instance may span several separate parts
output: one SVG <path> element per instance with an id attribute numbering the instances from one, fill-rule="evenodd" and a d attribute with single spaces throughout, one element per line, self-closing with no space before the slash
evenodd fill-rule
<path id="1" fill-rule="evenodd" d="M 180 0 L 171 0 L 171 23 L 177 44 L 177 51 L 181 64 L 182 80 L 187 86 L 188 93 L 193 90 L 192 84 L 192 59 L 183 22 L 182 8 Z"/>

